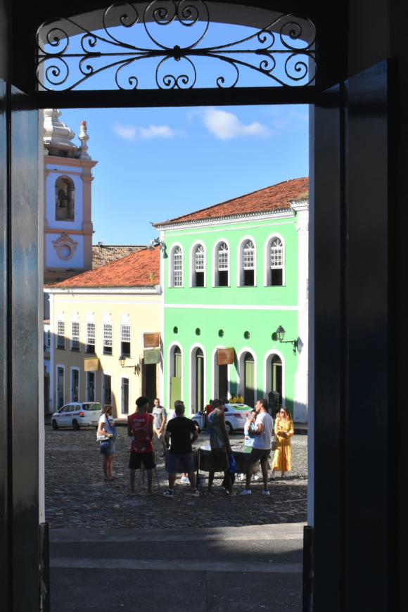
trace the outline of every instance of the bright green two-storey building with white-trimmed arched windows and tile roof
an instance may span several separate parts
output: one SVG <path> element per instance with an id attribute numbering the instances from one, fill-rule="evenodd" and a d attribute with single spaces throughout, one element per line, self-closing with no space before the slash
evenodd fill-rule
<path id="1" fill-rule="evenodd" d="M 307 422 L 308 217 L 302 178 L 155 224 L 165 405 L 266 397 Z"/>

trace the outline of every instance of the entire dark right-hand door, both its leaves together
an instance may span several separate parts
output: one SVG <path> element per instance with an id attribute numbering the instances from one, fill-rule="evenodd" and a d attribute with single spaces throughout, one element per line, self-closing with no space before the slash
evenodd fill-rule
<path id="1" fill-rule="evenodd" d="M 388 609 L 387 89 L 381 63 L 314 110 L 314 612 Z"/>

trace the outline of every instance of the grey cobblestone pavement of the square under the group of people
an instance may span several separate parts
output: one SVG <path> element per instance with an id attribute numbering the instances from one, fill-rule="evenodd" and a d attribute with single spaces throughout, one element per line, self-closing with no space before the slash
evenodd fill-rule
<path id="1" fill-rule="evenodd" d="M 144 528 L 216 527 L 222 525 L 264 525 L 306 521 L 307 509 L 307 435 L 293 436 L 292 471 L 270 483 L 270 497 L 261 495 L 261 480 L 253 480 L 253 495 L 238 497 L 241 483 L 236 481 L 234 495 L 227 496 L 215 480 L 212 495 L 206 486 L 201 495 L 189 495 L 189 485 L 177 483 L 174 498 L 162 497 L 167 473 L 160 450 L 155 446 L 158 489 L 153 473 L 153 495 L 142 485 L 135 497 L 129 496 L 129 438 L 126 427 L 117 428 L 113 473 L 115 480 L 103 480 L 102 456 L 94 428 L 80 431 L 52 431 L 46 426 L 45 498 L 46 521 L 51 528 Z M 241 444 L 242 434 L 231 436 L 231 444 Z M 208 444 L 200 434 L 195 447 Z M 138 478 L 136 473 L 136 479 Z M 136 490 L 138 481 L 136 480 Z"/>

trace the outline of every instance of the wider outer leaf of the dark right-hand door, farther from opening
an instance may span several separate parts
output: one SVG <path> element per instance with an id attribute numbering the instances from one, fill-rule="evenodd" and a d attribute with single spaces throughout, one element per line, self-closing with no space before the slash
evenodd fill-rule
<path id="1" fill-rule="evenodd" d="M 383 62 L 347 83 L 345 606 L 350 612 L 388 607 L 387 81 Z"/>

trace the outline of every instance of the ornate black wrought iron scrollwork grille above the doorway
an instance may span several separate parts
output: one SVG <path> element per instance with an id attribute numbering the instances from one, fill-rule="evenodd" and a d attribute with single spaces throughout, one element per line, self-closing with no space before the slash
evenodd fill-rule
<path id="1" fill-rule="evenodd" d="M 60 18 L 39 27 L 38 89 L 87 89 L 89 79 L 92 89 L 314 84 L 316 29 L 292 14 L 224 44 L 212 44 L 211 30 L 221 25 L 203 0 L 153 0 L 144 8 L 117 3 L 103 11 L 99 30 L 79 22 Z"/>

